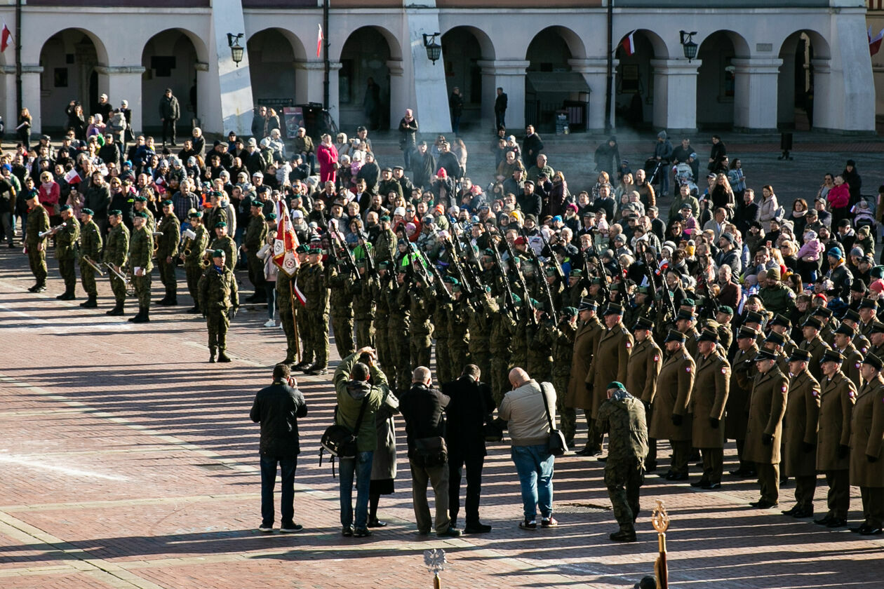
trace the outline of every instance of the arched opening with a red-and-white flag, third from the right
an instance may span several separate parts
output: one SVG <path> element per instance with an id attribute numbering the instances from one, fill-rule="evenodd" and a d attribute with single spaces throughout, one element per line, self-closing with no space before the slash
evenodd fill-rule
<path id="1" fill-rule="evenodd" d="M 618 128 L 651 128 L 654 102 L 651 60 L 665 59 L 667 55 L 666 44 L 651 31 L 636 30 L 621 39 L 614 54 L 618 62 L 614 80 L 614 112 Z"/>

